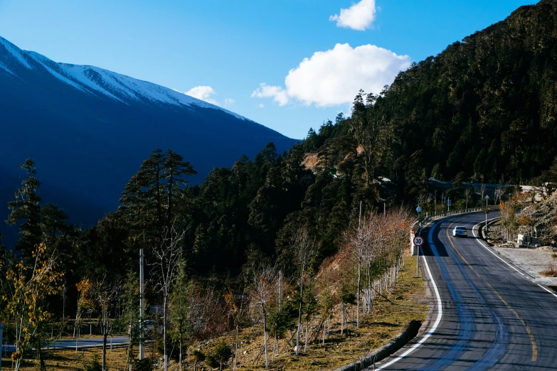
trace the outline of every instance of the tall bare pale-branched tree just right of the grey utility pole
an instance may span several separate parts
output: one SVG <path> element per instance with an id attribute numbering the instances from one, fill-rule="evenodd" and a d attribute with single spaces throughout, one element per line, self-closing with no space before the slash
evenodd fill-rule
<path id="1" fill-rule="evenodd" d="M 172 287 L 172 279 L 178 267 L 181 252 L 179 242 L 184 238 L 185 234 L 186 229 L 179 229 L 176 227 L 175 222 L 171 222 L 169 227 L 166 227 L 164 231 L 164 238 L 159 244 L 153 247 L 154 263 L 152 266 L 154 274 L 157 277 L 156 288 L 163 296 L 164 371 L 168 371 L 169 367 L 168 353 L 166 353 L 169 295 Z M 141 326 L 142 325 L 143 324 L 141 324 Z"/>

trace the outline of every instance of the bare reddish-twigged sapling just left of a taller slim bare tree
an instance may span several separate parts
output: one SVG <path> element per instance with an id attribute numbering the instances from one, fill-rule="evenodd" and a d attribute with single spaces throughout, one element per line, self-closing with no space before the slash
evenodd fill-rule
<path id="1" fill-rule="evenodd" d="M 260 310 L 263 321 L 263 346 L 265 347 L 265 368 L 269 368 L 269 352 L 267 349 L 267 303 L 272 300 L 277 282 L 277 271 L 274 267 L 262 265 L 253 267 L 253 285 L 250 290 L 251 303 L 255 310 Z"/>

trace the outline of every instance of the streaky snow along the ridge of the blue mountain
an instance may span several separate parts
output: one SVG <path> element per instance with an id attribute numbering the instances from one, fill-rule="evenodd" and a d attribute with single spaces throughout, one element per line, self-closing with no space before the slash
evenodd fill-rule
<path id="1" fill-rule="evenodd" d="M 2 48 L 6 50 L 6 53 L 3 53 Z M 215 104 L 198 100 L 152 82 L 137 80 L 133 77 L 89 65 L 56 63 L 39 53 L 21 50 L 0 36 L 0 68 L 11 75 L 16 75 L 14 73 L 15 65 L 23 66 L 28 70 L 43 68 L 56 79 L 77 90 L 92 95 L 109 97 L 126 104 L 130 100 L 147 100 L 176 106 L 195 105 L 202 108 L 219 109 L 238 119 L 248 120 L 239 114 L 228 111 L 228 109 L 223 109 Z"/>

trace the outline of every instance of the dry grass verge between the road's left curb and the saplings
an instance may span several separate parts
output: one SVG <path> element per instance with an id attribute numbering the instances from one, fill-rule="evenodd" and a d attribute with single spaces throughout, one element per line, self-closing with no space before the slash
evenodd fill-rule
<path id="1" fill-rule="evenodd" d="M 295 357 L 292 346 L 287 340 L 280 341 L 280 354 L 270 362 L 270 370 L 331 370 L 346 365 L 371 350 L 386 345 L 396 337 L 412 320 L 423 321 L 428 313 L 428 300 L 425 297 L 423 279 L 415 278 L 415 258 L 406 259 L 406 267 L 400 271 L 400 280 L 393 286 L 391 294 L 384 298 L 376 296 L 373 313 L 361 319 L 361 328 L 354 331 L 349 323 L 349 335 L 340 335 L 339 324 L 331 322 L 331 334 L 325 347 L 319 340 L 312 341 L 307 353 Z M 317 323 L 314 323 L 314 327 Z M 309 330 L 311 334 L 313 331 Z M 322 334 L 322 333 L 321 333 Z M 290 336 L 288 336 L 290 338 Z M 253 326 L 240 331 L 238 367 L 242 370 L 264 370 L 265 354 L 262 354 L 262 326 Z M 233 343 L 233 334 L 194 346 L 203 353 L 211 351 L 221 341 Z M 268 348 L 272 351 L 273 340 Z M 303 345 L 302 345 L 303 350 Z M 269 356 L 271 358 L 271 355 Z M 193 359 L 186 359 L 186 368 L 193 370 Z M 204 370 L 208 370 L 205 368 Z"/>

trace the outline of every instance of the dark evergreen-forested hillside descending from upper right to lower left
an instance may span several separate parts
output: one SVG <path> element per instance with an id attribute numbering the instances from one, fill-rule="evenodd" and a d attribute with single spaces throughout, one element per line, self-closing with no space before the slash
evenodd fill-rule
<path id="1" fill-rule="evenodd" d="M 51 318 L 75 313 L 78 328 L 89 308 L 83 307 L 84 288 L 96 283 L 97 294 L 116 294 L 110 306 L 87 310 L 100 315 L 100 308 L 110 307 L 120 330 L 127 328 L 139 316 L 140 249 L 149 267 L 147 301 L 164 306 L 165 316 L 168 307 L 164 328 L 173 341 L 191 343 L 259 323 L 253 313 L 235 317 L 241 312 L 237 306 L 245 311 L 249 295 L 253 305 L 258 282 L 275 287 L 282 279 L 290 285 L 291 302 L 281 307 L 285 293 L 278 294 L 271 328 L 277 334 L 300 328 L 302 312 L 309 317 L 327 311 L 314 297 L 324 291 L 317 286 L 304 291 L 304 285 L 311 286 L 324 260 L 343 248 L 351 257 L 349 269 L 344 281 L 336 282 L 339 289 L 328 308 L 357 305 L 359 313 L 366 290 L 361 282 L 368 282 L 368 290 L 377 279 L 388 286 L 400 268 L 413 219 L 403 208 L 413 210 L 419 202 L 433 213 L 443 208 L 445 195 L 455 208 L 479 204 L 470 185 L 463 185 L 471 178 L 506 183 L 556 178 L 557 165 L 544 173 L 557 156 L 556 37 L 557 0 L 521 7 L 400 72 L 380 94 L 360 91 L 349 116 L 339 114 L 310 130 L 290 150 L 280 154 L 267 144 L 253 161 L 243 156 L 231 168 L 213 168 L 200 185 L 188 183 L 196 173 L 191 158 L 154 149 L 137 163 L 120 207 L 87 229 L 70 225 L 63 210 L 41 200 L 43 171 L 26 161 L 19 173 L 23 182 L 11 190 L 16 198 L 9 204 L 8 222 L 19 227 L 21 238 L 16 254 L 3 252 L 1 268 L 12 272 L 2 275 L 8 298 L 2 301 L 4 318 L 16 313 L 9 299 L 10 280 L 18 276 L 14 267 L 31 267 L 33 258 L 50 256 L 56 262 L 49 269 L 63 277 L 51 276 L 49 285 L 56 287 L 35 310 L 49 308 Z M 435 192 L 430 176 L 453 181 L 453 188 Z M 365 223 L 364 253 L 359 234 Z M 185 301 L 189 304 L 181 306 Z M 37 331 L 45 336 L 46 328 Z"/>

